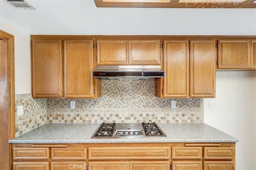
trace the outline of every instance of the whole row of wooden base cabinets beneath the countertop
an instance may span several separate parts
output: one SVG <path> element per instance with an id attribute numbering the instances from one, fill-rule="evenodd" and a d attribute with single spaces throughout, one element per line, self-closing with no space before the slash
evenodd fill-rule
<path id="1" fill-rule="evenodd" d="M 235 143 L 12 143 L 11 147 L 13 167 L 21 170 L 235 168 Z"/>

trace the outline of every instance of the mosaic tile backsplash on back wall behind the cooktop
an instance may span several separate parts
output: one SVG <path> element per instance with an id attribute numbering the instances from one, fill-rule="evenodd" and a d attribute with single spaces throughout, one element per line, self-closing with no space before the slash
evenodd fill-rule
<path id="1" fill-rule="evenodd" d="M 202 99 L 157 98 L 154 80 L 102 80 L 101 90 L 97 99 L 47 99 L 47 123 L 203 122 Z M 170 108 L 171 100 L 176 108 Z"/>

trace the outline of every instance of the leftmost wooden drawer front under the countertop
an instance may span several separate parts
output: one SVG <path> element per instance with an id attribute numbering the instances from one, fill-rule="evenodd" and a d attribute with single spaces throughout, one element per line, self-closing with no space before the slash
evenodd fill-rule
<path id="1" fill-rule="evenodd" d="M 49 148 L 15 147 L 13 148 L 13 159 L 49 159 Z"/>

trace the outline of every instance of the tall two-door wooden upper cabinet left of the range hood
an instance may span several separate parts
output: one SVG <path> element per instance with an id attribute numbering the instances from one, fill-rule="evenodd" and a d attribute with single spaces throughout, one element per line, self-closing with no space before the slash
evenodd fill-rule
<path id="1" fill-rule="evenodd" d="M 92 37 L 32 35 L 33 98 L 98 98 Z"/>

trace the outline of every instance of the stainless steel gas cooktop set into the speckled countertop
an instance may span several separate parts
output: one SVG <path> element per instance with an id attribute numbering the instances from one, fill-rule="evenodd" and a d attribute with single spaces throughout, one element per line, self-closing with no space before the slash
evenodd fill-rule
<path id="1" fill-rule="evenodd" d="M 102 123 L 92 138 L 166 137 L 156 123 Z"/>

